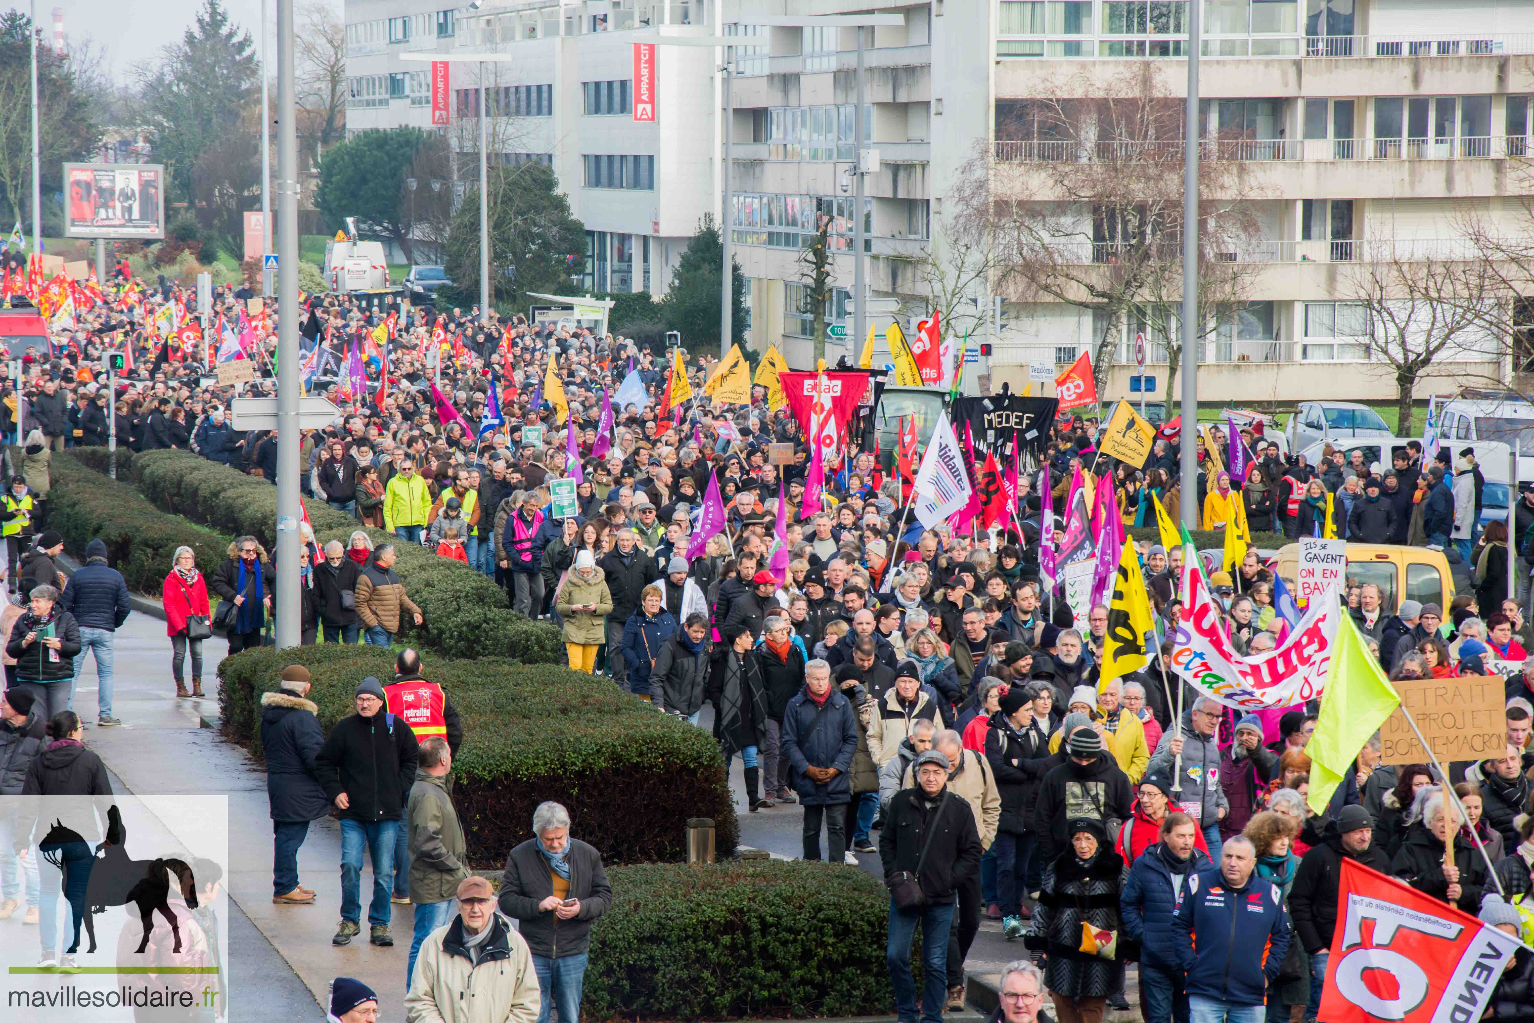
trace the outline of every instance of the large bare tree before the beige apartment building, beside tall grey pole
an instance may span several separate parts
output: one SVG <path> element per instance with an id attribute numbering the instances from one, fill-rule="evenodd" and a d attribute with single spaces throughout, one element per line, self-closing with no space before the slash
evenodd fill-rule
<path id="1" fill-rule="evenodd" d="M 1103 314 L 1092 342 L 1100 391 L 1126 316 L 1161 310 L 1166 319 L 1181 298 L 1183 121 L 1183 101 L 1150 64 L 1103 84 L 1088 72 L 1045 78 L 1034 98 L 999 109 L 997 135 L 1009 138 L 969 161 L 954 195 L 960 232 L 991 241 L 997 290 Z M 1200 267 L 1209 271 L 1200 336 L 1244 301 L 1256 267 L 1232 264 L 1262 258 L 1259 193 L 1239 141 L 1206 143 L 1200 161 Z M 1163 327 L 1175 373 L 1180 340 L 1169 321 Z"/>

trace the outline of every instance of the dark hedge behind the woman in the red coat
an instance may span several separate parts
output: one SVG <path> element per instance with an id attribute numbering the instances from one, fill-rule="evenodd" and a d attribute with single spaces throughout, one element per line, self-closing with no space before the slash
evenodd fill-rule
<path id="1" fill-rule="evenodd" d="M 74 459 L 52 460 L 49 485 L 43 523 L 61 532 L 64 549 L 81 561 L 86 544 L 103 540 L 107 561 L 123 574 L 129 589 L 158 597 L 179 546 L 196 552 L 204 572 L 229 557 L 229 537 L 167 515 L 130 483 L 109 480 Z"/>

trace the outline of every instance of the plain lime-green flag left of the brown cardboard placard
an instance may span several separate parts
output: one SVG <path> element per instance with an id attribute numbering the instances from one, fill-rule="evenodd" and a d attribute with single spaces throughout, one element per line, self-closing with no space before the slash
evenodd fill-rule
<path id="1" fill-rule="evenodd" d="M 1332 667 L 1321 695 L 1316 732 L 1305 745 L 1310 755 L 1310 808 L 1325 813 L 1332 793 L 1353 770 L 1353 759 L 1401 706 L 1401 696 L 1364 646 L 1351 615 L 1339 615 L 1332 640 Z"/>

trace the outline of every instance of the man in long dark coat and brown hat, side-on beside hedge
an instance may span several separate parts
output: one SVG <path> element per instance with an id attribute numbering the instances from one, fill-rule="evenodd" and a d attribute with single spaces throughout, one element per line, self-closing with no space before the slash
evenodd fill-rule
<path id="1" fill-rule="evenodd" d="M 314 758 L 325 744 L 319 707 L 305 699 L 308 669 L 288 664 L 282 687 L 261 695 L 261 750 L 267 758 L 267 799 L 272 802 L 272 902 L 302 906 L 314 902 L 313 888 L 298 883 L 298 850 L 308 822 L 330 814 L 330 799 L 319 784 Z"/>

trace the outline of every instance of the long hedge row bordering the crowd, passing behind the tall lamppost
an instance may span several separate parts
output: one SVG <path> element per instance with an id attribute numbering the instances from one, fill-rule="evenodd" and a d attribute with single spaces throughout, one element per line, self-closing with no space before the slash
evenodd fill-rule
<path id="1" fill-rule="evenodd" d="M 72 449 L 80 451 L 80 449 Z M 104 469 L 106 456 L 94 448 L 87 460 Z M 77 456 L 78 457 L 78 456 Z M 229 537 L 253 535 L 268 549 L 276 544 L 278 494 L 270 483 L 190 451 L 146 451 L 132 457 L 129 472 L 140 492 L 156 508 L 204 523 Z M 123 471 L 120 469 L 120 477 Z M 345 541 L 357 521 L 324 502 L 308 500 L 310 525 L 321 543 Z M 420 544 L 397 543 L 382 529 L 368 529 L 374 543 L 396 543 L 394 571 L 410 598 L 420 606 L 423 624 L 408 621 L 405 638 L 448 656 L 512 656 L 529 664 L 563 664 L 560 630 L 511 610 L 506 592 L 494 580 L 462 561 L 440 558 Z M 216 566 L 216 563 L 215 563 Z M 213 566 L 204 566 L 212 571 Z"/>

